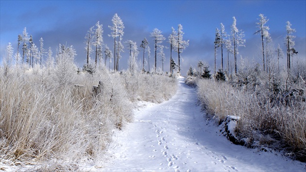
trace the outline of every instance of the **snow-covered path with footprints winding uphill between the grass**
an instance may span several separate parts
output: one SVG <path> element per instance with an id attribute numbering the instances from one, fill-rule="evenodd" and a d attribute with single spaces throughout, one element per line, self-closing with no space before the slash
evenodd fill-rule
<path id="1" fill-rule="evenodd" d="M 305 163 L 232 144 L 205 121 L 194 88 L 135 111 L 135 122 L 114 136 L 113 155 L 99 171 L 306 171 Z"/>

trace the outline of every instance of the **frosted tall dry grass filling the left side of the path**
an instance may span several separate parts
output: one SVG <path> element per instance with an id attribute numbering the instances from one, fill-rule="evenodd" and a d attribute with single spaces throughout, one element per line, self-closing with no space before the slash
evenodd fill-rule
<path id="1" fill-rule="evenodd" d="M 61 165 L 68 170 L 84 157 L 99 159 L 114 129 L 133 120 L 132 101 L 161 102 L 176 90 L 176 79 L 166 76 L 99 70 L 93 75 L 75 72 L 65 82 L 55 79 L 54 70 L 11 69 L 6 76 L 0 71 L 3 163 L 41 164 L 53 159 L 54 168 Z M 93 94 L 99 81 L 100 91 Z"/>

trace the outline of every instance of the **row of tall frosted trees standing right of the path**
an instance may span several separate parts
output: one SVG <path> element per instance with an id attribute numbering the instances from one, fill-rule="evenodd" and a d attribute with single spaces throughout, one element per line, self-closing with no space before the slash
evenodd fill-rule
<path id="1" fill-rule="evenodd" d="M 266 16 L 263 14 L 259 14 L 258 18 L 259 22 L 256 23 L 257 25 L 257 31 L 255 31 L 254 34 L 259 34 L 261 39 L 261 54 L 262 54 L 262 67 L 263 71 L 271 72 L 272 69 L 272 57 L 276 55 L 277 57 L 277 71 L 279 72 L 279 59 L 284 57 L 284 52 L 280 45 L 278 44 L 278 47 L 276 49 L 273 48 L 272 45 L 272 38 L 269 33 L 269 26 L 267 26 L 267 22 L 269 19 L 267 19 Z M 244 32 L 242 30 L 239 30 L 237 28 L 237 20 L 235 16 L 233 17 L 233 24 L 231 26 L 231 32 L 230 34 L 227 34 L 225 32 L 224 25 L 221 23 L 220 28 L 216 28 L 216 34 L 215 34 L 215 65 L 214 65 L 214 73 L 216 74 L 216 61 L 217 61 L 217 51 L 219 48 L 221 48 L 221 71 L 223 72 L 223 47 L 227 50 L 227 70 L 226 72 L 229 73 L 230 66 L 229 66 L 229 54 L 234 55 L 234 66 L 235 66 L 235 74 L 237 74 L 237 55 L 239 53 L 238 47 L 245 47 L 245 39 L 244 38 Z M 291 70 L 292 67 L 292 56 L 294 54 L 297 54 L 298 52 L 294 48 L 294 41 L 295 38 L 292 33 L 295 32 L 295 29 L 291 28 L 291 24 L 289 21 L 286 22 L 286 36 L 284 37 L 284 44 L 287 48 L 286 54 L 287 54 L 287 71 L 288 73 Z"/>

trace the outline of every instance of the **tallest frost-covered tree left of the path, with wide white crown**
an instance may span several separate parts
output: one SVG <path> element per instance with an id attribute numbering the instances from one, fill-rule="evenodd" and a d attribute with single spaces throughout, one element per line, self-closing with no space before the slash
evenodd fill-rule
<path id="1" fill-rule="evenodd" d="M 111 36 L 114 38 L 114 71 L 116 71 L 118 70 L 118 63 L 119 63 L 119 47 L 123 47 L 122 45 L 120 46 L 119 44 L 121 44 L 120 41 L 124 33 L 123 32 L 124 25 L 123 25 L 121 18 L 117 15 L 117 13 L 113 16 L 112 23 L 113 23 L 113 26 L 108 26 L 108 28 L 110 28 L 112 31 L 111 34 L 108 36 Z M 117 37 L 119 37 L 119 40 L 116 41 Z M 117 51 L 116 51 L 116 47 L 117 47 Z"/>

